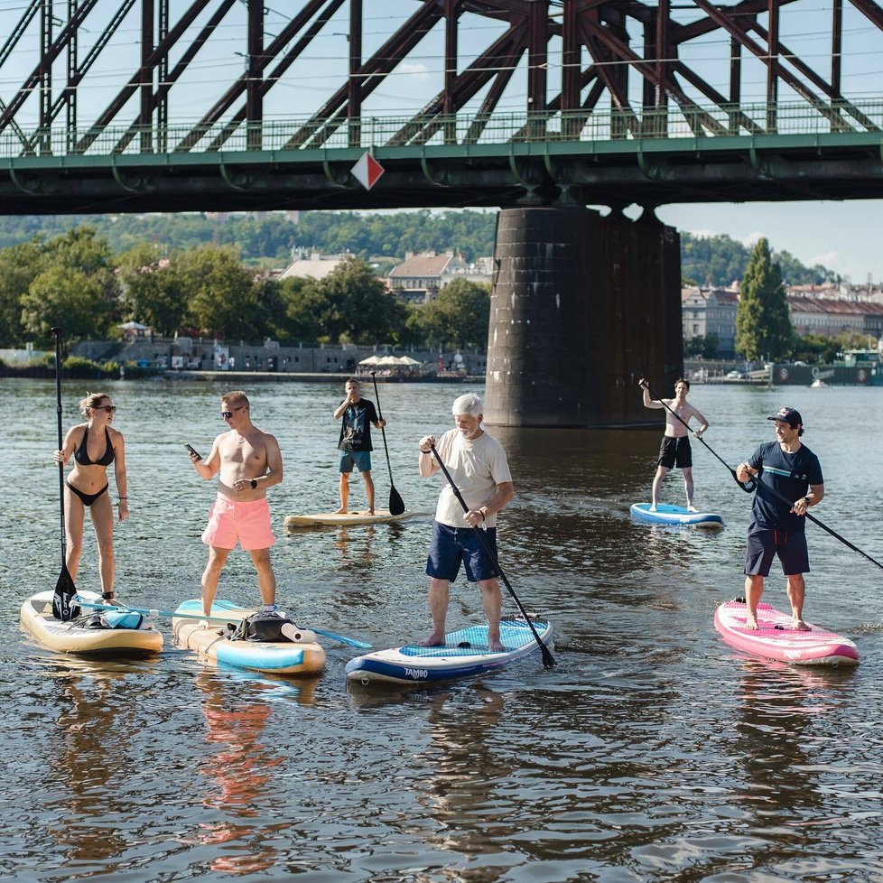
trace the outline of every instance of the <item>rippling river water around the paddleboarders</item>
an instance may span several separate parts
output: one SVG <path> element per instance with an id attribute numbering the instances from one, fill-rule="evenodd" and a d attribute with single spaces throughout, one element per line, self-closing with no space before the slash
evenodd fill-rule
<path id="1" fill-rule="evenodd" d="M 649 498 L 660 431 L 492 430 L 516 484 L 501 563 L 525 607 L 553 620 L 558 666 L 534 657 L 429 690 L 365 692 L 344 676 L 357 651 L 326 640 L 321 676 L 285 681 L 204 667 L 172 646 L 164 620 L 163 654 L 135 662 L 52 654 L 23 636 L 23 599 L 60 570 L 55 387 L 0 385 L 12 421 L 0 458 L 0 879 L 883 880 L 881 573 L 808 525 L 805 615 L 855 640 L 861 664 L 798 669 L 730 650 L 712 616 L 741 594 L 750 497 L 701 444 L 696 501 L 726 519 L 716 533 L 629 520 L 629 504 Z M 66 428 L 82 386 L 65 383 Z M 209 451 L 224 390 L 109 388 L 132 508 L 116 532 L 117 590 L 174 609 L 198 594 L 214 496 L 181 445 Z M 419 478 L 416 441 L 451 426 L 467 388 L 380 388 L 411 509 L 431 512 L 440 488 Z M 270 492 L 280 600 L 304 626 L 376 646 L 423 637 L 428 520 L 281 529 L 287 514 L 337 507 L 342 383 L 248 392 L 285 461 Z M 767 414 L 798 408 L 826 479 L 813 515 L 880 561 L 881 395 L 693 386 L 691 401 L 730 464 L 774 437 Z M 383 503 L 379 436 L 374 456 Z M 359 507 L 357 476 L 352 488 Z M 664 499 L 683 503 L 677 473 Z M 87 537 L 80 586 L 97 589 Z M 244 553 L 230 556 L 219 595 L 256 601 Z M 765 600 L 786 606 L 775 569 Z M 480 618 L 478 593 L 458 582 L 449 627 Z"/>

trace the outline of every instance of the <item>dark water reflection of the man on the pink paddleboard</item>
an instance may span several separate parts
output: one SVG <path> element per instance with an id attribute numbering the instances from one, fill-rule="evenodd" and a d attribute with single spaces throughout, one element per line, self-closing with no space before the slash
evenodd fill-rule
<path id="1" fill-rule="evenodd" d="M 741 714 L 736 728 L 745 758 L 742 800 L 763 828 L 793 825 L 832 813 L 813 767 L 823 766 L 824 728 L 813 738 L 811 724 L 833 711 L 844 679 L 854 669 L 810 672 L 773 662 L 746 661 L 739 684 Z M 796 818 L 795 818 L 796 817 Z"/>

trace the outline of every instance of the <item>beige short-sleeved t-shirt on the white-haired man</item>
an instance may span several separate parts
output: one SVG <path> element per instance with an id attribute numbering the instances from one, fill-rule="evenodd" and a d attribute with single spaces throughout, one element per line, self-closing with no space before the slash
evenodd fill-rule
<path id="1" fill-rule="evenodd" d="M 506 451 L 487 432 L 482 432 L 475 441 L 469 441 L 460 430 L 451 429 L 441 436 L 435 450 L 439 452 L 441 462 L 451 473 L 451 479 L 470 509 L 484 506 L 496 493 L 497 485 L 512 480 Z M 463 517 L 465 513 L 460 500 L 454 496 L 444 474 L 439 474 L 444 488 L 435 508 L 435 520 L 449 527 L 469 527 Z M 484 524 L 495 527 L 497 514 L 488 515 Z"/>

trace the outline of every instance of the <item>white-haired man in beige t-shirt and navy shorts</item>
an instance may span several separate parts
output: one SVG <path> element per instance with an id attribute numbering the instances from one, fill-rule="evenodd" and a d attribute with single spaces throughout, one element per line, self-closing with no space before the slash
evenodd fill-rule
<path id="1" fill-rule="evenodd" d="M 504 649 L 500 642 L 502 599 L 497 577 L 497 512 L 514 496 L 512 475 L 506 451 L 493 436 L 481 428 L 481 399 L 474 393 L 460 395 L 451 406 L 454 429 L 438 441 L 426 435 L 420 440 L 420 474 L 429 478 L 441 469 L 432 455 L 438 451 L 441 461 L 469 507 L 463 511 L 451 487 L 445 482 L 432 521 L 432 547 L 426 562 L 429 582 L 429 606 L 432 612 L 432 635 L 422 646 L 444 644 L 444 621 L 448 612 L 449 590 L 462 562 L 469 582 L 481 590 L 485 616 L 488 618 L 488 646 Z M 485 539 L 493 555 L 475 528 L 486 530 Z"/>

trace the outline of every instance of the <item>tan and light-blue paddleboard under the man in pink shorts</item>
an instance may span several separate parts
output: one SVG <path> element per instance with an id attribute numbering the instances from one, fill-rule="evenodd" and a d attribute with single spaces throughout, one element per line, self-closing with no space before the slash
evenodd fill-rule
<path id="1" fill-rule="evenodd" d="M 202 616 L 202 601 L 184 601 L 175 612 Z M 213 618 L 225 618 L 233 626 L 253 613 L 256 609 L 237 607 L 229 601 L 216 600 L 211 606 Z M 172 628 L 181 646 L 195 650 L 203 662 L 215 665 L 268 674 L 309 674 L 320 672 L 325 665 L 325 651 L 314 642 L 230 640 L 231 629 L 222 623 L 211 622 L 205 628 L 196 619 L 172 618 Z"/>

